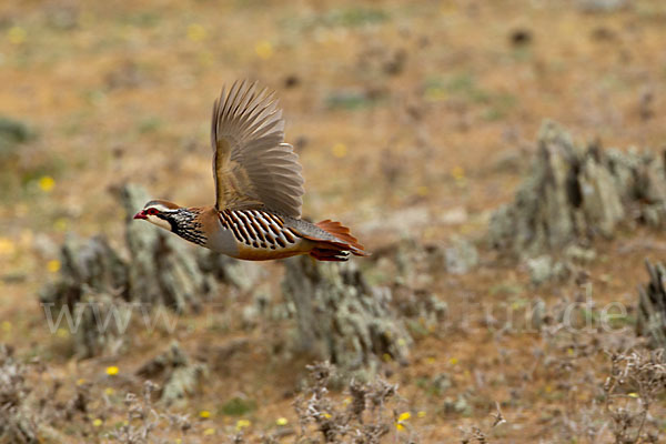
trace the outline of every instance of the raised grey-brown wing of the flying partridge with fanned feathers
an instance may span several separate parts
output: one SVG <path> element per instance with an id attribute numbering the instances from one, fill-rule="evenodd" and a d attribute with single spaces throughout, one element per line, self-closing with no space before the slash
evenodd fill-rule
<path id="1" fill-rule="evenodd" d="M 301 216 L 299 157 L 284 143 L 284 120 L 274 93 L 234 82 L 213 107 L 211 129 L 218 210 L 265 206 Z"/>

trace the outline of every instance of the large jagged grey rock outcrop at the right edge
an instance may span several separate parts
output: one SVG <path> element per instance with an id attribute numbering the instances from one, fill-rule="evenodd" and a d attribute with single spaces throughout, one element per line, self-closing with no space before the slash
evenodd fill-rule
<path id="1" fill-rule="evenodd" d="M 652 153 L 576 145 L 554 122 L 544 123 L 529 175 L 515 201 L 492 216 L 491 245 L 517 259 L 559 252 L 623 222 L 660 225 L 666 212 L 664 161 Z"/>

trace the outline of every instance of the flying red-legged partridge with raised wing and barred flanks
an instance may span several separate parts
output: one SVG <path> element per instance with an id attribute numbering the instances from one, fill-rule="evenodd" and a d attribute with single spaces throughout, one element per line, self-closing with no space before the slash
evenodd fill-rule
<path id="1" fill-rule="evenodd" d="M 320 261 L 367 255 L 340 222 L 301 219 L 303 178 L 274 92 L 256 83 L 222 89 L 211 127 L 216 201 L 180 206 L 152 200 L 134 219 L 147 220 L 232 258 L 265 261 L 309 254 Z"/>

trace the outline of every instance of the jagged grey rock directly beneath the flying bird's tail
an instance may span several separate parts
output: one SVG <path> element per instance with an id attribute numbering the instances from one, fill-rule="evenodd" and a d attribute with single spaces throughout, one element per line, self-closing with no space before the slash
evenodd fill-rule
<path id="1" fill-rule="evenodd" d="M 385 355 L 406 363 L 412 343 L 390 306 L 391 291 L 373 287 L 354 262 L 285 261 L 282 283 L 297 323 L 295 349 L 340 369 L 372 369 Z"/>

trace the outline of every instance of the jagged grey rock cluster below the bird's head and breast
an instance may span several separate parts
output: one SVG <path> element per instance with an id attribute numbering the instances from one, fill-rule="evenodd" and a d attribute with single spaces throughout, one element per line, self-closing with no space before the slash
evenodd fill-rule
<path id="1" fill-rule="evenodd" d="M 120 200 L 127 214 L 127 248 L 117 251 L 101 235 L 68 235 L 60 251 L 60 274 L 40 292 L 49 324 L 70 329 L 80 357 L 120 351 L 133 315 L 147 316 L 158 306 L 196 312 L 218 292 L 219 282 L 249 291 L 260 276 L 240 261 L 133 221 L 149 200 L 142 188 L 125 185 Z M 72 323 L 57 325 L 59 316 Z"/>

